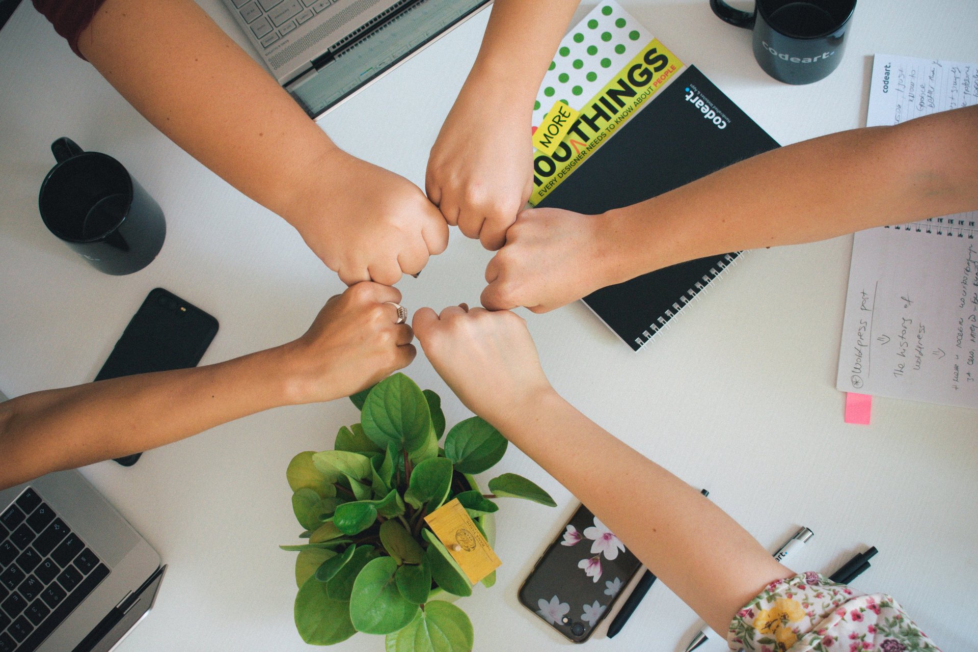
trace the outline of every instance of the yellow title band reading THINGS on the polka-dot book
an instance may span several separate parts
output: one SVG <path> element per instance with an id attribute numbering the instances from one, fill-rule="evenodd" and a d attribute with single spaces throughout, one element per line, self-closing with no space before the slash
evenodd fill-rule
<path id="1" fill-rule="evenodd" d="M 582 106 L 567 135 L 553 152 L 534 152 L 530 203 L 536 205 L 548 196 L 682 68 L 683 62 L 657 38 L 649 41 L 628 65 L 611 77 L 598 95 Z M 654 143 L 649 143 L 649 149 L 653 148 Z M 622 164 L 634 164 L 634 161 L 623 161 Z"/>

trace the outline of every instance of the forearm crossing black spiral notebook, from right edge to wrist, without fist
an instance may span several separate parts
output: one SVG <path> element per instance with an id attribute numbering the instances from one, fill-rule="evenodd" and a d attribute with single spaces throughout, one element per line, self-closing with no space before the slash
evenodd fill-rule
<path id="1" fill-rule="evenodd" d="M 766 152 L 609 211 L 618 283 L 727 251 L 833 238 L 978 208 L 978 107 Z"/>

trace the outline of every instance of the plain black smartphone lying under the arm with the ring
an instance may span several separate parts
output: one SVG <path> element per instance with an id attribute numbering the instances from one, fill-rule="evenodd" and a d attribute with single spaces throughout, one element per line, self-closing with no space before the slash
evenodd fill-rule
<path id="1" fill-rule="evenodd" d="M 217 334 L 217 320 L 156 287 L 125 327 L 96 381 L 134 373 L 197 367 Z M 141 453 L 115 459 L 132 466 Z"/>

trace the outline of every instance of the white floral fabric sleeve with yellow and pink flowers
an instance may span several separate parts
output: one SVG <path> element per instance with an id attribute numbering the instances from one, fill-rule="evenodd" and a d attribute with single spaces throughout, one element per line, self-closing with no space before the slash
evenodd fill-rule
<path id="1" fill-rule="evenodd" d="M 727 642 L 757 652 L 940 652 L 889 595 L 818 573 L 768 585 L 733 617 Z"/>

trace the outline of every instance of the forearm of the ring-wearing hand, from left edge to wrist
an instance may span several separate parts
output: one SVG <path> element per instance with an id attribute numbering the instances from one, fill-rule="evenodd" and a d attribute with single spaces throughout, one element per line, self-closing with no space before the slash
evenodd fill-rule
<path id="1" fill-rule="evenodd" d="M 0 404 L 0 489 L 127 456 L 291 402 L 278 350 L 35 392 Z"/>

